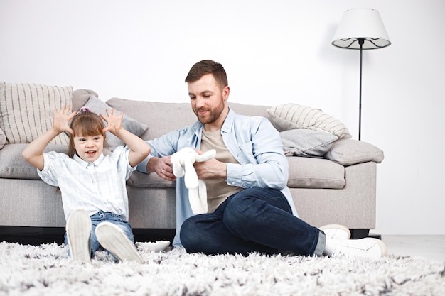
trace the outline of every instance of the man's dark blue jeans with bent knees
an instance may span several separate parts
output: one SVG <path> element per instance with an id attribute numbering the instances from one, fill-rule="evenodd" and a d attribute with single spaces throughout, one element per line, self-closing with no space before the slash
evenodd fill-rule
<path id="1" fill-rule="evenodd" d="M 247 188 L 228 197 L 213 213 L 191 216 L 181 226 L 188 253 L 252 252 L 321 255 L 325 236 L 291 213 L 279 190 Z"/>

